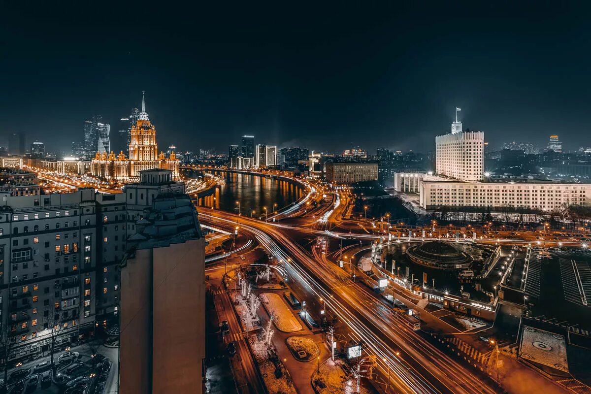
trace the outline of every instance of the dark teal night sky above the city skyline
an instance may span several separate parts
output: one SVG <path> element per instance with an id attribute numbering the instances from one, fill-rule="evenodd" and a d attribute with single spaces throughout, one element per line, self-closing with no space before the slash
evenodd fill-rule
<path id="1" fill-rule="evenodd" d="M 69 151 L 95 113 L 115 135 L 145 90 L 160 148 L 182 151 L 227 152 L 252 133 L 280 147 L 425 152 L 456 106 L 493 147 L 545 146 L 550 133 L 566 149 L 591 145 L 583 2 L 317 3 L 4 5 L 0 144 L 25 132 Z"/>

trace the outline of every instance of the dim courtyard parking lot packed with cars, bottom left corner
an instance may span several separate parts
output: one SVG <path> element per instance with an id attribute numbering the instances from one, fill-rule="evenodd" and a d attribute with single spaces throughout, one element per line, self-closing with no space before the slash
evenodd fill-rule
<path id="1" fill-rule="evenodd" d="M 86 353 L 86 354 L 85 354 Z M 54 356 L 53 375 L 49 356 L 17 364 L 8 371 L 4 386 L 10 394 L 103 394 L 117 392 L 118 349 L 100 346 L 91 357 L 85 346 L 78 346 Z"/>

